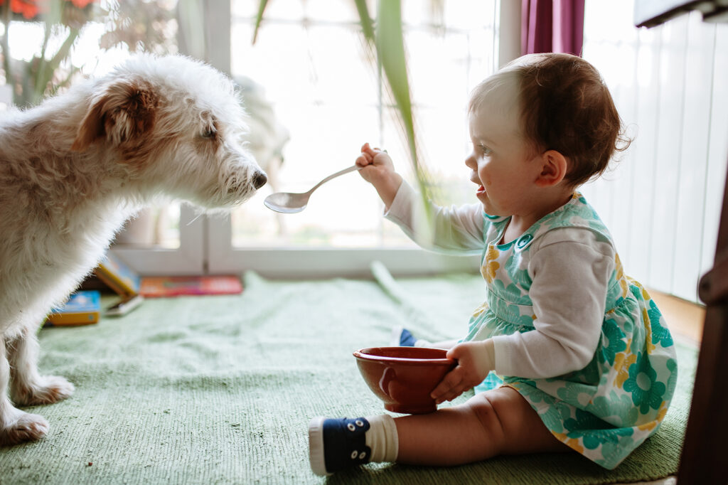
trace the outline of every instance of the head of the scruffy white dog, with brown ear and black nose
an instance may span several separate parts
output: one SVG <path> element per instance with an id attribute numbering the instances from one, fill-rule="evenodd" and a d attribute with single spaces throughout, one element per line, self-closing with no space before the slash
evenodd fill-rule
<path id="1" fill-rule="evenodd" d="M 113 151 L 145 192 L 231 207 L 266 183 L 243 146 L 244 120 L 219 71 L 182 56 L 142 55 L 96 84 L 71 148 Z"/>

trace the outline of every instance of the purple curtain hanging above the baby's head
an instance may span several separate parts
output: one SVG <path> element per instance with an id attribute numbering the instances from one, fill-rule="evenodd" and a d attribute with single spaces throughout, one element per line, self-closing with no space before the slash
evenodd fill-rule
<path id="1" fill-rule="evenodd" d="M 583 42 L 584 0 L 521 0 L 521 55 L 581 55 Z"/>

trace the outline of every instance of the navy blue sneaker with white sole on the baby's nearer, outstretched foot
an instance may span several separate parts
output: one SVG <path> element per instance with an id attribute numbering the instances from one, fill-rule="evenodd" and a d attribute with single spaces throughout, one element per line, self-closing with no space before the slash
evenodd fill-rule
<path id="1" fill-rule="evenodd" d="M 369 422 L 363 417 L 330 419 L 315 417 L 309 423 L 309 461 L 318 476 L 363 465 L 371 460 L 366 446 Z"/>

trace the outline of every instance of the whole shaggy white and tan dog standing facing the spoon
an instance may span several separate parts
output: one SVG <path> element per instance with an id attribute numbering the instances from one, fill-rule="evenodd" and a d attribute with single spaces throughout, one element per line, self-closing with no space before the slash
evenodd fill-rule
<path id="1" fill-rule="evenodd" d="M 0 114 L 0 445 L 48 430 L 13 403 L 73 393 L 63 377 L 39 374 L 36 331 L 128 217 L 160 194 L 229 208 L 266 183 L 240 143 L 239 101 L 209 66 L 142 55 Z"/>

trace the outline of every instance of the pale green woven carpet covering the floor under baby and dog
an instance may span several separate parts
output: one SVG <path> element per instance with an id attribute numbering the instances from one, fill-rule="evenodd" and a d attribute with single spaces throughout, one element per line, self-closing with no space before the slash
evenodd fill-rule
<path id="1" fill-rule="evenodd" d="M 550 454 L 314 476 L 311 417 L 383 411 L 352 351 L 386 344 L 394 325 L 460 336 L 483 298 L 479 276 L 374 274 L 280 282 L 249 273 L 240 296 L 147 300 L 97 326 L 45 328 L 41 371 L 66 376 L 76 393 L 27 409 L 50 433 L 0 448 L 0 484 L 606 484 L 676 473 L 695 373 L 687 347 L 678 347 L 677 396 L 662 428 L 616 470 Z"/>

